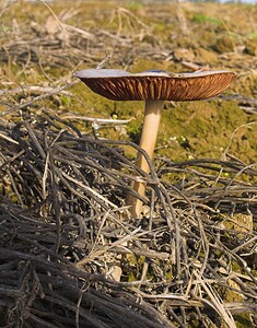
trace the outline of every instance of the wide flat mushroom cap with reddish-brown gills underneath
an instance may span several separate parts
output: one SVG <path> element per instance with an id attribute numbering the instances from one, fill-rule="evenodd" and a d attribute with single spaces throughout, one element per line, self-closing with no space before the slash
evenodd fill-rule
<path id="1" fill-rule="evenodd" d="M 226 70 L 170 73 L 89 69 L 74 74 L 93 92 L 112 101 L 199 101 L 222 93 L 236 74 Z"/>

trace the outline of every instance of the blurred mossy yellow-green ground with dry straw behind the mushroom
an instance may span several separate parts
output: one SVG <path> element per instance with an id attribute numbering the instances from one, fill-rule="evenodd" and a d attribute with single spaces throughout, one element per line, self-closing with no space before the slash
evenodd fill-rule
<path id="1" fill-rule="evenodd" d="M 257 7 L 194 2 L 2 2 L 0 85 L 9 91 L 9 98 L 2 98 L 0 110 L 40 94 L 36 87 L 25 91 L 26 86 L 62 85 L 72 80 L 75 70 L 95 68 L 106 54 L 112 56 L 106 68 L 131 72 L 229 69 L 237 79 L 224 95 L 165 104 L 156 154 L 183 161 L 222 159 L 230 153 L 256 163 Z M 23 92 L 15 93 L 17 87 Z M 100 133 L 110 139 L 139 139 L 140 102 L 107 101 L 77 83 L 67 93 L 36 105 L 63 117 L 69 113 L 130 119 L 124 127 L 103 127 Z M 91 124 L 78 125 L 91 131 Z"/>

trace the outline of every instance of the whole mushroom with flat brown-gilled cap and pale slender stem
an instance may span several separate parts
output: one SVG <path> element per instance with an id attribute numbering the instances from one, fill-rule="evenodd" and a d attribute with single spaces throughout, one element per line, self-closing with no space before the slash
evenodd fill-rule
<path id="1" fill-rule="evenodd" d="M 89 69 L 75 72 L 93 92 L 113 101 L 144 101 L 144 120 L 140 147 L 153 157 L 161 109 L 164 101 L 199 101 L 213 97 L 227 89 L 235 73 L 226 70 L 197 71 L 192 73 L 170 73 L 151 70 L 132 74 L 124 70 Z M 137 165 L 145 173 L 150 167 L 139 153 Z M 142 197 L 145 184 L 135 181 L 135 191 Z M 140 216 L 142 202 L 133 197 L 127 198 L 132 216 Z"/>

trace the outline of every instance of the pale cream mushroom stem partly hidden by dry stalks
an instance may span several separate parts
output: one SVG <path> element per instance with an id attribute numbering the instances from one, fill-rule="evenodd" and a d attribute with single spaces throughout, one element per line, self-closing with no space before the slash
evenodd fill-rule
<path id="1" fill-rule="evenodd" d="M 152 160 L 153 152 L 156 143 L 159 124 L 161 118 L 161 109 L 163 107 L 163 101 L 147 101 L 144 109 L 143 129 L 140 140 L 140 147 L 149 154 Z M 139 153 L 137 159 L 137 165 L 145 173 L 150 172 L 150 167 L 144 156 Z M 145 194 L 145 184 L 135 181 L 132 188 L 140 196 Z M 142 210 L 142 202 L 133 196 L 127 198 L 127 204 L 131 206 L 130 213 L 133 218 L 139 218 Z"/>

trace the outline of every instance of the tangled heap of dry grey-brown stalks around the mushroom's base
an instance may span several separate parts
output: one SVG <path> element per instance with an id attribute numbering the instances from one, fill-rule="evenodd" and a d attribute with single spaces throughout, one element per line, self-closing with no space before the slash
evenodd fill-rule
<path id="1" fill-rule="evenodd" d="M 141 151 L 136 144 L 83 136 L 46 110 L 3 125 L 1 136 L 0 306 L 11 325 L 174 327 L 192 312 L 199 323 L 215 325 L 218 315 L 232 325 L 234 314 L 255 312 L 246 309 L 257 297 L 255 232 L 222 223 L 236 213 L 255 222 L 254 166 L 160 159 L 156 171 L 147 159 L 148 176 L 121 151 Z M 139 197 L 132 179 L 148 185 L 141 222 L 122 220 L 126 195 Z M 108 278 L 114 266 L 124 281 Z"/>

